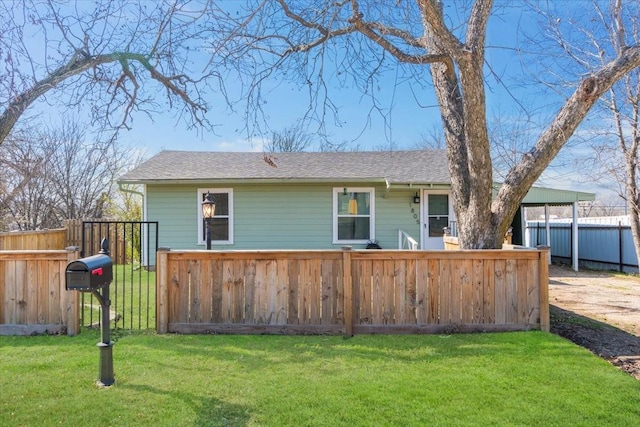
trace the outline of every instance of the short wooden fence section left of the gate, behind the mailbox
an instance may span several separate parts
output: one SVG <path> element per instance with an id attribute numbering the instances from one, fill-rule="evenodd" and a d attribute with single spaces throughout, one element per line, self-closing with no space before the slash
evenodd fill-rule
<path id="1" fill-rule="evenodd" d="M 0 334 L 78 333 L 78 292 L 65 290 L 75 251 L 0 252 Z"/>

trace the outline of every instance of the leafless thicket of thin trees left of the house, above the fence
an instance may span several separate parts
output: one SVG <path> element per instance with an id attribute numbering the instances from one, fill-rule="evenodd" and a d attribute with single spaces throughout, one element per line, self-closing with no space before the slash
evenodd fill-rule
<path id="1" fill-rule="evenodd" d="M 6 224 L 35 230 L 60 227 L 64 219 L 103 217 L 129 158 L 113 139 L 89 142 L 73 119 L 9 137 L 0 146 Z"/>

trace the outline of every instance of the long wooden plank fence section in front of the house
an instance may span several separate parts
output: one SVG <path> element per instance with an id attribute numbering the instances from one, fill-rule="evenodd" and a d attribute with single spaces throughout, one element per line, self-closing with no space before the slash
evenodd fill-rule
<path id="1" fill-rule="evenodd" d="M 548 250 L 159 251 L 159 333 L 549 330 Z"/>

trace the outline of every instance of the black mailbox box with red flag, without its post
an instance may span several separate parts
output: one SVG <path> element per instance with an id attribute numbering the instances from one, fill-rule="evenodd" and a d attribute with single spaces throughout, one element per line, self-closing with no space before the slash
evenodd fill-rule
<path id="1" fill-rule="evenodd" d="M 65 287 L 68 291 L 92 291 L 113 281 L 113 264 L 109 255 L 98 254 L 67 264 Z"/>

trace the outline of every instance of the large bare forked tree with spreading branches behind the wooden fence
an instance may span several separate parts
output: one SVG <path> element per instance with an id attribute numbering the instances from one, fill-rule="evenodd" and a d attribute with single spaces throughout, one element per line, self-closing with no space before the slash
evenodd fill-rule
<path id="1" fill-rule="evenodd" d="M 468 7 L 467 7 L 468 6 Z M 499 248 L 518 206 L 599 97 L 640 65 L 640 46 L 589 70 L 548 126 L 505 174 L 492 198 L 493 164 L 486 118 L 486 30 L 493 1 L 248 1 L 220 13 L 223 38 L 212 59 L 246 78 L 251 111 L 262 83 L 294 79 L 308 87 L 309 115 L 323 122 L 336 106 L 329 79 L 356 85 L 376 109 L 379 76 L 397 69 L 416 87 L 433 84 L 444 127 L 453 205 L 462 248 Z M 213 35 L 212 35 L 213 37 Z M 337 77 L 336 77 L 337 76 Z M 381 109 L 378 109 L 381 111 Z"/>

